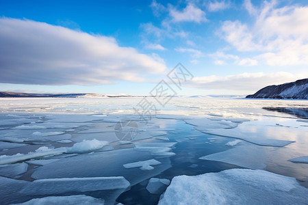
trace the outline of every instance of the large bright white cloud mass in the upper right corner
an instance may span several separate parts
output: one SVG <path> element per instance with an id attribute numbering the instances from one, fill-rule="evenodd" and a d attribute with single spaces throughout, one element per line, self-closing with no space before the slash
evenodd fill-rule
<path id="1" fill-rule="evenodd" d="M 255 22 L 249 26 L 239 20 L 225 21 L 224 40 L 238 51 L 258 52 L 254 58 L 270 66 L 308 65 L 308 6 L 276 6 L 276 1 L 264 1 L 257 9 L 245 1 Z"/>

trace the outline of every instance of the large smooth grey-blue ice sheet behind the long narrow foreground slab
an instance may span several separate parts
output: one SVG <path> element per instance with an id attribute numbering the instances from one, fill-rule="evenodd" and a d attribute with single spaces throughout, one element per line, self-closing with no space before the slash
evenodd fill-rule
<path id="1" fill-rule="evenodd" d="M 147 178 L 156 176 L 170 167 L 170 159 L 159 159 L 161 164 L 155 169 L 144 172 L 141 169 L 126 169 L 123 165 L 137 161 L 153 159 L 149 152 L 142 154 L 134 149 L 112 150 L 109 152 L 94 152 L 93 154 L 78 154 L 36 168 L 32 178 L 68 178 L 124 176 L 132 185 Z M 80 163 L 82 162 L 82 163 Z"/>

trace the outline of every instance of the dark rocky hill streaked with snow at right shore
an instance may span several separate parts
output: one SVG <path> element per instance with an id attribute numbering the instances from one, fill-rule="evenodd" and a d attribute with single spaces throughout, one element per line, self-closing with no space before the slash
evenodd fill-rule
<path id="1" fill-rule="evenodd" d="M 246 98 L 294 98 L 308 99 L 308 79 L 301 79 L 292 83 L 270 85 L 262 88 Z"/>

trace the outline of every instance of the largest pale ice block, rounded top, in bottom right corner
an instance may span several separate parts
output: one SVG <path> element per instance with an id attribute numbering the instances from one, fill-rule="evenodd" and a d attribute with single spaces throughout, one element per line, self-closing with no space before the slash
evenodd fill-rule
<path id="1" fill-rule="evenodd" d="M 159 201 L 164 204 L 307 204 L 308 189 L 295 178 L 263 170 L 229 169 L 176 176 Z"/>

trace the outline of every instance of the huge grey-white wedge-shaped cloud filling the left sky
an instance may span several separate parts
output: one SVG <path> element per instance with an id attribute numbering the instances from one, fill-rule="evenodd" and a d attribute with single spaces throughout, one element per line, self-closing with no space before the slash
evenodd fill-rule
<path id="1" fill-rule="evenodd" d="M 144 81 L 144 74 L 166 70 L 114 38 L 14 18 L 0 18 L 0 27 L 1 83 L 94 85 Z"/>

